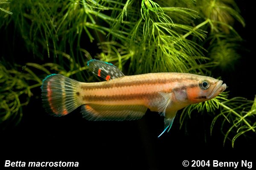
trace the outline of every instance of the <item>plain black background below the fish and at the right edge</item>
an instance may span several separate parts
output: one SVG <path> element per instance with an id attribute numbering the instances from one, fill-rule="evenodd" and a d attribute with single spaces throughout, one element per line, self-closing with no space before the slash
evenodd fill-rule
<path id="1" fill-rule="evenodd" d="M 230 97 L 243 96 L 253 99 L 255 90 L 255 7 L 237 1 L 246 26 L 235 25 L 245 40 L 241 46 L 242 58 L 236 69 L 221 76 L 231 91 Z M 14 56 L 22 59 L 17 49 Z M 24 56 L 25 57 L 25 56 Z M 20 61 L 20 58 L 17 61 Z M 35 62 L 35 61 L 31 61 Z M 40 89 L 32 90 L 40 96 Z M 80 108 L 64 117 L 45 114 L 41 99 L 32 97 L 28 106 L 23 107 L 23 118 L 16 127 L 1 131 L 0 169 L 5 160 L 11 161 L 78 161 L 83 169 L 176 169 L 183 168 L 182 161 L 256 161 L 256 134 L 236 139 L 235 148 L 226 141 L 220 125 L 216 125 L 210 136 L 212 119 L 198 113 L 192 114 L 187 122 L 187 130 L 179 129 L 181 111 L 175 118 L 169 133 L 157 136 L 163 130 L 163 117 L 147 111 L 146 115 L 135 121 L 90 122 L 82 119 Z M 212 167 L 212 166 L 211 166 Z M 189 167 L 187 167 L 188 169 Z M 216 167 L 218 168 L 218 167 Z M 6 168 L 7 169 L 7 168 Z M 46 168 L 38 168 L 46 169 Z M 67 168 L 66 168 L 67 169 Z M 75 169 L 75 168 L 73 168 Z M 225 168 L 226 169 L 226 168 Z"/>

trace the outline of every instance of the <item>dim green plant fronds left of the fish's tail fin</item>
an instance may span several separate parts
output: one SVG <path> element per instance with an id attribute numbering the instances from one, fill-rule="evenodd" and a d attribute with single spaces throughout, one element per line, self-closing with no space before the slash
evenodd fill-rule
<path id="1" fill-rule="evenodd" d="M 14 122 L 17 125 L 23 115 L 22 106 L 29 104 L 31 89 L 42 82 L 26 66 L 15 65 L 21 69 L 17 71 L 5 65 L 0 62 L 0 124 Z"/>

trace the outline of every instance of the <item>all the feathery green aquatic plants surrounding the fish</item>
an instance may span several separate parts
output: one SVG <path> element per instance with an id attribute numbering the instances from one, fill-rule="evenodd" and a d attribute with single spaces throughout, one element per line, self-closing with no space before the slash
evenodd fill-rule
<path id="1" fill-rule="evenodd" d="M 93 81 L 86 65 L 92 56 L 112 62 L 127 74 L 207 76 L 215 67 L 233 67 L 241 57 L 235 52 L 241 37 L 233 23 L 244 26 L 244 20 L 233 0 L 10 0 L 3 5 L 13 14 L 0 13 L 0 30 L 15 26 L 33 57 L 27 57 L 22 72 L 17 71 L 22 68 L 17 63 L 10 62 L 16 66 L 7 69 L 1 62 L 2 123 L 12 119 L 10 115 L 22 114 L 22 106 L 31 98 L 30 89 L 39 87 L 51 72 Z M 38 63 L 31 63 L 31 58 Z M 27 100 L 21 104 L 24 95 Z M 224 142 L 233 134 L 234 146 L 237 137 L 255 132 L 253 107 L 255 101 L 228 99 L 224 93 L 183 109 L 180 126 L 195 111 L 215 113 L 211 131 L 222 121 Z"/>

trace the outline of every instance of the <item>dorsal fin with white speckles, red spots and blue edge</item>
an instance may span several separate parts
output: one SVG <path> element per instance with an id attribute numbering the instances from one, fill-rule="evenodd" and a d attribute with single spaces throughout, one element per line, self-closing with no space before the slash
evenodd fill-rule
<path id="1" fill-rule="evenodd" d="M 119 70 L 119 68 L 108 62 L 91 59 L 87 62 L 87 66 L 93 74 L 96 74 L 105 80 L 116 79 L 125 76 L 122 71 Z"/>

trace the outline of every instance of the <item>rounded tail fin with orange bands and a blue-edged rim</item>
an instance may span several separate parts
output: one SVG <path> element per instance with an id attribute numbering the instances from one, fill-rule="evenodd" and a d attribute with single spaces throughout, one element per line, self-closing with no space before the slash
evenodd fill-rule
<path id="1" fill-rule="evenodd" d="M 82 105 L 79 84 L 80 82 L 61 74 L 47 76 L 41 86 L 46 111 L 54 116 L 64 116 Z"/>

